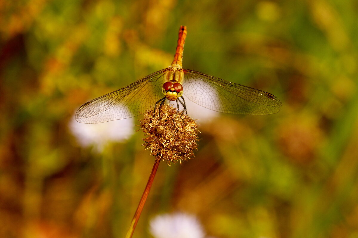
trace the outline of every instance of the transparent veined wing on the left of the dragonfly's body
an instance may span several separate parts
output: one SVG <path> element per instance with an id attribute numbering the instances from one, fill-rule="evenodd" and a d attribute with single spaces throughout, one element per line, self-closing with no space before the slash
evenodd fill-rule
<path id="1" fill-rule="evenodd" d="M 127 87 L 108 93 L 84 103 L 76 112 L 76 121 L 82 123 L 100 123 L 138 116 L 140 112 L 163 98 L 161 87 L 167 69 L 157 71 Z"/>

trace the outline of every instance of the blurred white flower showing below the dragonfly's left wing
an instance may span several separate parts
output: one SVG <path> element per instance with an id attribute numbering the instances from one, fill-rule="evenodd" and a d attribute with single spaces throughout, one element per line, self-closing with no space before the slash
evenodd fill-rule
<path id="1" fill-rule="evenodd" d="M 69 122 L 72 134 L 83 147 L 93 146 L 97 152 L 110 142 L 124 142 L 134 133 L 133 118 L 103 123 L 86 124 L 77 122 L 74 117 Z"/>

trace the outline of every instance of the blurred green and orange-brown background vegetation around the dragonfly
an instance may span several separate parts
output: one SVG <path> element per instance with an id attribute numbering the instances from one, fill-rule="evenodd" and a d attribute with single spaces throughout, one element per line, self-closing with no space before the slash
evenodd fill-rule
<path id="1" fill-rule="evenodd" d="M 270 92 L 269 116 L 200 119 L 161 163 L 134 237 L 184 212 L 217 238 L 358 237 L 357 1 L 0 1 L 0 237 L 124 237 L 154 163 L 136 118 L 84 102 L 171 64 Z"/>

